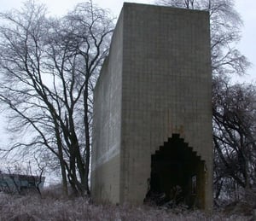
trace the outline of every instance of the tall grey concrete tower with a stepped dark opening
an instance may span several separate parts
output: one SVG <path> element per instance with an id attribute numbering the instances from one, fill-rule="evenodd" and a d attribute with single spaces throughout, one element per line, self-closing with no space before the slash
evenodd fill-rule
<path id="1" fill-rule="evenodd" d="M 124 3 L 94 94 L 94 200 L 211 210 L 211 91 L 208 13 Z"/>

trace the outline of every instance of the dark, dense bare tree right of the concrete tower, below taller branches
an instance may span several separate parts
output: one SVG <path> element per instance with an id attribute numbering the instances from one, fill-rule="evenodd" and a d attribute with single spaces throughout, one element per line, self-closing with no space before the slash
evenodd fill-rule
<path id="1" fill-rule="evenodd" d="M 230 85 L 226 79 L 214 81 L 213 142 L 215 183 L 233 192 L 252 189 L 256 182 L 256 87 Z M 227 188 L 225 183 L 234 183 Z M 241 195 L 241 193 L 238 193 Z M 237 197 L 236 197 L 237 198 Z"/>

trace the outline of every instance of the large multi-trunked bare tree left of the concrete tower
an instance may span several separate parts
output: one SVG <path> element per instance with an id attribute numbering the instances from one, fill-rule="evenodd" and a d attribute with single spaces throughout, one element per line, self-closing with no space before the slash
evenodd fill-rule
<path id="1" fill-rule="evenodd" d="M 89 194 L 92 90 L 113 20 L 91 2 L 52 19 L 32 1 L 1 19 L 0 102 L 10 131 L 26 135 L 8 153 L 49 155 L 59 162 L 64 193 L 70 183 L 74 194 Z"/>

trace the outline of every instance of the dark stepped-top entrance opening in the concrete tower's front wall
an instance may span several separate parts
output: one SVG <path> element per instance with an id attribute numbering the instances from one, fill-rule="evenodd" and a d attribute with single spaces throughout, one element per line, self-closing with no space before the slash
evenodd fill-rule
<path id="1" fill-rule="evenodd" d="M 202 208 L 204 164 L 200 156 L 178 134 L 151 155 L 151 175 L 145 202 L 157 206 L 187 205 Z"/>

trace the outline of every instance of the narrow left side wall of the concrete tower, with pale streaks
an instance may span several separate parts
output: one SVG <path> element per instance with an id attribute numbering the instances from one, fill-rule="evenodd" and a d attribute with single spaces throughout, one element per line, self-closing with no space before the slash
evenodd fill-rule
<path id="1" fill-rule="evenodd" d="M 123 16 L 113 33 L 94 92 L 91 194 L 95 201 L 119 203 Z"/>

